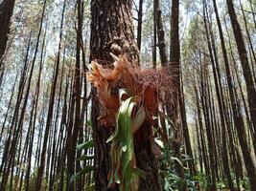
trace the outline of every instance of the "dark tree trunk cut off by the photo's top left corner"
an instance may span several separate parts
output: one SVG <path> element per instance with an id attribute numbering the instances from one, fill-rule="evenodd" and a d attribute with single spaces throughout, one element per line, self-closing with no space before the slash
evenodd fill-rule
<path id="1" fill-rule="evenodd" d="M 0 4 L 0 60 L 6 50 L 14 4 L 15 0 L 4 0 Z M 1 67 L 2 66 L 0 65 L 0 68 Z"/>

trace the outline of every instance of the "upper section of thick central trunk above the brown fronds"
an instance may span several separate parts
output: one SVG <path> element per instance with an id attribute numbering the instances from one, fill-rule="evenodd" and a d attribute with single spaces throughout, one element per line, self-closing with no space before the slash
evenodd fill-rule
<path id="1" fill-rule="evenodd" d="M 113 61 L 109 53 L 122 53 L 137 64 L 139 56 L 134 41 L 131 1 L 94 0 L 91 13 L 91 59 L 98 59 L 109 67 Z"/>

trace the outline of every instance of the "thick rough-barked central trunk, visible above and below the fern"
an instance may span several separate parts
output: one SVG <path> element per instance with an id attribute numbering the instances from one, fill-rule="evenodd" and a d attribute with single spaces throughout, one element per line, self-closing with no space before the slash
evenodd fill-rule
<path id="1" fill-rule="evenodd" d="M 131 0 L 93 0 L 91 1 L 91 56 L 104 67 L 111 68 L 113 62 L 109 53 L 126 54 L 134 65 L 138 64 L 139 54 L 134 40 Z M 99 101 L 96 90 L 92 88 L 92 128 L 95 142 L 95 190 L 109 190 L 107 188 L 107 174 L 110 169 L 109 148 L 106 139 L 114 127 L 98 125 Z M 157 162 L 151 153 L 151 126 L 143 124 L 134 140 L 135 155 L 138 167 L 146 170 L 147 179 L 140 180 L 139 190 L 161 190 Z M 146 135 L 146 136 L 145 136 Z M 118 190 L 117 186 L 112 190 Z"/>

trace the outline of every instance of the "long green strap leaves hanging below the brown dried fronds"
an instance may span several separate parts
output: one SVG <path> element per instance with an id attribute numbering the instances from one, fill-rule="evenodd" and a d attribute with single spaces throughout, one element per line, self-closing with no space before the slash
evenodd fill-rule
<path id="1" fill-rule="evenodd" d="M 120 91 L 120 94 L 123 93 L 124 91 Z M 145 176 L 144 171 L 136 166 L 133 134 L 141 126 L 146 115 L 144 106 L 141 106 L 135 117 L 132 117 L 136 105 L 135 98 L 130 96 L 121 103 L 116 117 L 115 132 L 107 139 L 107 142 L 112 141 L 110 148 L 112 168 L 108 174 L 108 186 L 119 183 L 121 191 L 138 190 L 139 177 Z"/>

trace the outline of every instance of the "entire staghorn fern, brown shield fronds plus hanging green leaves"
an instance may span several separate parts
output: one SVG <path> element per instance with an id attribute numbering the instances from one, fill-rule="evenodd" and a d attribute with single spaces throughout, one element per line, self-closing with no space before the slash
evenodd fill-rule
<path id="1" fill-rule="evenodd" d="M 136 191 L 138 180 L 145 173 L 136 166 L 133 135 L 144 121 L 153 124 L 153 115 L 161 104 L 173 103 L 175 83 L 170 73 L 175 69 L 139 69 L 129 63 L 124 55 L 112 56 L 115 60 L 112 69 L 92 61 L 87 79 L 97 88 L 100 102 L 99 125 L 116 126 L 115 132 L 107 140 L 112 141 L 108 187 L 118 183 L 121 191 Z M 151 125 L 149 128 L 152 128 Z M 151 138 L 152 153 L 160 155 L 158 150 Z"/>

